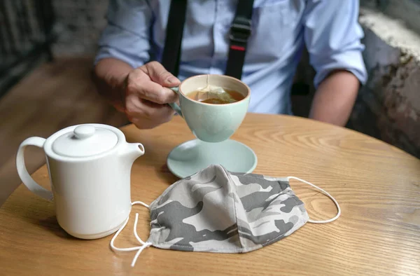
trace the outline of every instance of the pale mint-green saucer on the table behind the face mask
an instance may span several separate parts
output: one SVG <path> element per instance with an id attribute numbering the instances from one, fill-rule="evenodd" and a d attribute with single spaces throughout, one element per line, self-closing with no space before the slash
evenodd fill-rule
<path id="1" fill-rule="evenodd" d="M 167 166 L 179 178 L 209 167 L 222 165 L 230 172 L 252 172 L 257 156 L 251 148 L 235 140 L 207 143 L 199 139 L 176 146 L 168 155 Z"/>

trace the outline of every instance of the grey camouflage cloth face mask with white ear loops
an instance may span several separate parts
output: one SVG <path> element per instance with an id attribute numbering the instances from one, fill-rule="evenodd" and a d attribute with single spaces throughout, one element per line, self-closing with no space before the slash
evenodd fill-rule
<path id="1" fill-rule="evenodd" d="M 290 188 L 290 179 L 302 181 L 328 195 L 337 206 L 337 215 L 326 221 L 309 219 L 303 202 Z M 111 240 L 114 251 L 137 251 L 146 247 L 181 251 L 245 253 L 281 240 L 307 223 L 335 221 L 341 213 L 337 201 L 321 188 L 297 177 L 273 178 L 259 174 L 238 174 L 221 165 L 211 165 L 191 177 L 169 186 L 148 207 L 151 232 L 144 242 L 137 234 L 136 214 L 134 236 L 139 247 L 118 248 L 116 237 Z"/>

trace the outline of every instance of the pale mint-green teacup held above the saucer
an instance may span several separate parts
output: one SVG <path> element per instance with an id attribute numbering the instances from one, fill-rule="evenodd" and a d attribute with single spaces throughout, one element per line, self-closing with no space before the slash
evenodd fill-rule
<path id="1" fill-rule="evenodd" d="M 241 93 L 244 99 L 229 104 L 207 104 L 188 97 L 188 93 L 208 84 L 235 90 Z M 203 142 L 216 143 L 229 139 L 244 120 L 251 98 L 248 85 L 237 78 L 224 75 L 193 76 L 171 89 L 179 94 L 180 105 L 169 105 L 186 120 L 195 137 Z"/>

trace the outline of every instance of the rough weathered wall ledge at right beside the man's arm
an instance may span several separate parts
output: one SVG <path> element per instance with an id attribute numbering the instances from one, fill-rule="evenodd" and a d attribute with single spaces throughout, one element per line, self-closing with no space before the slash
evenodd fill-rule
<path id="1" fill-rule="evenodd" d="M 420 35 L 379 10 L 360 8 L 367 84 L 352 128 L 420 157 Z"/>

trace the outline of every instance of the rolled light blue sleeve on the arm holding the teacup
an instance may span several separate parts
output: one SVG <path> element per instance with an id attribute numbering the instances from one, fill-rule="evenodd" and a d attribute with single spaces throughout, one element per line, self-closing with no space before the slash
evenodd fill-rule
<path id="1" fill-rule="evenodd" d="M 106 57 L 127 62 L 133 68 L 148 62 L 153 20 L 148 1 L 111 0 L 106 20 L 94 64 Z"/>

